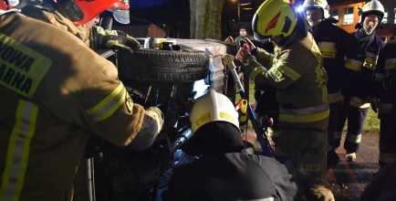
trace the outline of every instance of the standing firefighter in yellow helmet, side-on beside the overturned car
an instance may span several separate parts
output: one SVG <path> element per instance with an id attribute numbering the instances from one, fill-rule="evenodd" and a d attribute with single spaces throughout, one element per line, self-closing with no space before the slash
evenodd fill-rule
<path id="1" fill-rule="evenodd" d="M 257 9 L 252 25 L 257 40 L 270 37 L 276 43 L 276 55 L 255 48 L 253 56 L 249 48 L 243 48 L 236 58 L 255 84 L 276 88 L 279 136 L 275 157 L 303 185 L 308 200 L 333 200 L 326 176 L 327 73 L 318 46 L 307 32 L 307 21 L 288 0 L 267 0 Z"/>

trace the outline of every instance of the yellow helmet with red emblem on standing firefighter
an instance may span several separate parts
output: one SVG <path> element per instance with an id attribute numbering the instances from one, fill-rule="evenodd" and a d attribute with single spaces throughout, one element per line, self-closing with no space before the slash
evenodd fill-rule
<path id="1" fill-rule="evenodd" d="M 266 0 L 255 12 L 252 29 L 255 39 L 288 37 L 297 24 L 297 14 L 288 0 Z"/>

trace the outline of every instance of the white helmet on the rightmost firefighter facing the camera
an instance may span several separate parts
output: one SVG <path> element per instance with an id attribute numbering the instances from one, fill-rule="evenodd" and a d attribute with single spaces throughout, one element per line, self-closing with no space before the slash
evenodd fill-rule
<path id="1" fill-rule="evenodd" d="M 380 26 L 380 22 L 382 21 L 382 18 L 385 13 L 385 9 L 382 4 L 380 4 L 380 1 L 378 0 L 372 0 L 368 2 L 367 4 L 363 5 L 363 7 L 358 8 L 359 9 L 359 16 L 360 16 L 360 23 L 356 26 L 357 28 L 362 27 L 364 18 L 369 15 L 376 15 L 379 18 L 378 21 L 378 26 Z"/>

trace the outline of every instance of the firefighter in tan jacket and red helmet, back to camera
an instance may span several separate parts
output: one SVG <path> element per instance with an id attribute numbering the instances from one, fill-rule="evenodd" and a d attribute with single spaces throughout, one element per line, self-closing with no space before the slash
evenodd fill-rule
<path id="1" fill-rule="evenodd" d="M 140 151 L 162 129 L 162 111 L 134 104 L 112 63 L 65 28 L 18 13 L 41 3 L 0 4 L 0 200 L 72 200 L 89 133 Z M 78 25 L 129 9 L 119 0 L 57 5 Z"/>

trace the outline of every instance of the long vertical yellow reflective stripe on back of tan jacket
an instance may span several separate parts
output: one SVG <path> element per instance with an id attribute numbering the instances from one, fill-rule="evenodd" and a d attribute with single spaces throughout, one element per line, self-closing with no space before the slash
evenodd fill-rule
<path id="1" fill-rule="evenodd" d="M 38 107 L 35 104 L 19 100 L 16 124 L 8 143 L 0 200 L 19 199 L 25 180 L 30 142 L 36 130 L 37 114 Z"/>

